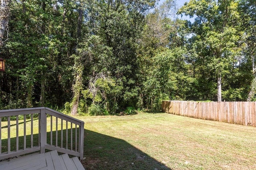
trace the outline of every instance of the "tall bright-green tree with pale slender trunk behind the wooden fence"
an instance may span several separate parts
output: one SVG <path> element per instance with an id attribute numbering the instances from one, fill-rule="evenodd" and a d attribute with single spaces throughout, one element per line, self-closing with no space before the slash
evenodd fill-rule
<path id="1" fill-rule="evenodd" d="M 196 47 L 197 60 L 203 59 L 217 75 L 218 102 L 222 101 L 222 78 L 230 66 L 234 66 L 234 57 L 239 51 L 237 6 L 238 2 L 232 0 L 190 0 L 178 12 L 196 16 L 191 25 L 191 40 Z"/>

